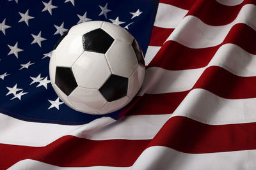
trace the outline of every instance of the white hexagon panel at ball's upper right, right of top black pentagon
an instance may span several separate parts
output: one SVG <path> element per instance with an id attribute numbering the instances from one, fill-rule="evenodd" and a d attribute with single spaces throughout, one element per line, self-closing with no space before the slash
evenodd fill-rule
<path id="1" fill-rule="evenodd" d="M 138 66 L 136 53 L 131 45 L 115 40 L 106 52 L 111 72 L 129 78 Z"/>

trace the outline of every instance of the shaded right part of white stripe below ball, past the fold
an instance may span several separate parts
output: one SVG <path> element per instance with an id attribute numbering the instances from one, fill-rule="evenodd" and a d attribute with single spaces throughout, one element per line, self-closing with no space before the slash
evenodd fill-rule
<path id="1" fill-rule="evenodd" d="M 93 140 L 152 139 L 169 117 L 170 114 L 124 116 L 99 131 L 79 137 Z M 141 122 L 143 122 L 143 124 L 141 124 Z M 145 129 L 147 129 L 147 131 L 145 131 Z"/>

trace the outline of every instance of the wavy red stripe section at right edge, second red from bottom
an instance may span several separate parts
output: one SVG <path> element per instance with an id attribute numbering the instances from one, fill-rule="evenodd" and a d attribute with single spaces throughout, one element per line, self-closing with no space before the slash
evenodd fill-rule
<path id="1" fill-rule="evenodd" d="M 227 70 L 211 66 L 205 69 L 193 89 L 209 90 L 226 99 L 245 99 L 256 97 L 256 76 L 236 76 Z"/>

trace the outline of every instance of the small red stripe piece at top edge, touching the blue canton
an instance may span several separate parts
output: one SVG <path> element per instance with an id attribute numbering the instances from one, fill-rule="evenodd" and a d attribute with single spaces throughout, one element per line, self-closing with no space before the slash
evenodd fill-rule
<path id="1" fill-rule="evenodd" d="M 182 8 L 183 10 L 189 10 L 196 0 L 159 0 L 159 3 L 170 4 Z"/>

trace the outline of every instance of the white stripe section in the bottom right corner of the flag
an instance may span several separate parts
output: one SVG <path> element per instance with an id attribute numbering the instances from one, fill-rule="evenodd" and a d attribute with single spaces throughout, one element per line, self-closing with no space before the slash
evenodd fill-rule
<path id="1" fill-rule="evenodd" d="M 141 153 L 132 169 L 253 170 L 256 169 L 255 159 L 256 150 L 189 154 L 164 146 L 152 146 Z"/>

